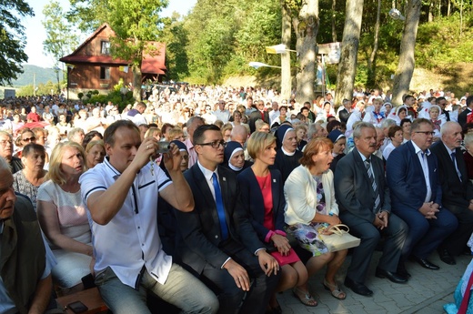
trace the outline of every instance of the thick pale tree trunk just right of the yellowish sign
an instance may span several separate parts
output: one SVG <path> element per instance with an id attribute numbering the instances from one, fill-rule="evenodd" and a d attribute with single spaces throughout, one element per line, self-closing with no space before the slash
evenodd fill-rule
<path id="1" fill-rule="evenodd" d="M 342 99 L 351 99 L 353 96 L 363 0 L 347 0 L 346 12 L 335 92 L 335 104 L 337 105 L 342 103 Z"/>

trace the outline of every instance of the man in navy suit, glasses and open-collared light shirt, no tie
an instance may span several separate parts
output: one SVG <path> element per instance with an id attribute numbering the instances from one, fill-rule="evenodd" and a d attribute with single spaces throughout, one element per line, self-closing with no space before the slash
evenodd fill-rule
<path id="1" fill-rule="evenodd" d="M 428 255 L 458 227 L 457 218 L 442 207 L 438 160 L 428 149 L 433 130 L 430 120 L 414 120 L 411 139 L 393 150 L 386 164 L 392 210 L 409 227 L 398 267 L 398 272 L 407 276 L 404 261 L 409 256 L 423 268 L 438 269 L 428 261 Z"/>

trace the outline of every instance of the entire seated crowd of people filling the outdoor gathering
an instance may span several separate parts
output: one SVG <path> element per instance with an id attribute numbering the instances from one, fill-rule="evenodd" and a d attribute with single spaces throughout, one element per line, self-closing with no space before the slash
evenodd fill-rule
<path id="1" fill-rule="evenodd" d="M 180 86 L 121 112 L 63 100 L 1 104 L 2 312 L 44 312 L 51 291 L 92 277 L 114 313 L 150 312 L 146 291 L 185 312 L 281 313 L 287 289 L 317 306 L 307 280 L 326 266 L 331 296 L 371 296 L 381 239 L 375 276 L 398 284 L 415 276 L 408 260 L 438 270 L 434 251 L 448 265 L 471 252 L 468 93 L 393 106 L 375 89 L 334 106 L 330 93 L 298 104 L 274 89 Z M 324 243 L 338 224 L 361 239 L 347 289 L 348 250 Z"/>

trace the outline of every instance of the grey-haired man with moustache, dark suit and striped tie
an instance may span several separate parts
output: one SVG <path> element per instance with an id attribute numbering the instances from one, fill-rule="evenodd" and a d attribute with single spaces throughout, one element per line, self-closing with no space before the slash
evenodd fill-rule
<path id="1" fill-rule="evenodd" d="M 334 184 L 340 219 L 350 233 L 361 238 L 359 247 L 353 250 L 345 285 L 357 294 L 371 296 L 373 291 L 364 281 L 381 235 L 386 236 L 386 242 L 376 276 L 395 283 L 408 282 L 396 273 L 408 226 L 391 214 L 383 161 L 373 155 L 377 147 L 375 127 L 361 122 L 353 137 L 355 148 L 338 161 Z"/>

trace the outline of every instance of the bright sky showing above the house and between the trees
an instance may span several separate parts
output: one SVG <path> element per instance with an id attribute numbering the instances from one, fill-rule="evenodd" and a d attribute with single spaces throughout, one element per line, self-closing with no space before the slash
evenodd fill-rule
<path id="1" fill-rule="evenodd" d="M 69 0 L 58 0 L 63 5 L 64 11 L 69 9 Z M 35 11 L 34 17 L 26 17 L 23 19 L 25 25 L 26 46 L 25 53 L 28 56 L 28 65 L 53 67 L 54 60 L 51 56 L 45 56 L 43 53 L 43 41 L 45 41 L 45 27 L 41 23 L 45 19 L 43 8 L 49 4 L 50 0 L 26 0 L 26 2 Z M 180 15 L 186 15 L 192 7 L 196 5 L 196 0 L 169 0 L 169 5 L 162 11 L 162 15 L 170 16 L 173 12 Z M 84 35 L 82 40 L 90 34 Z"/>

